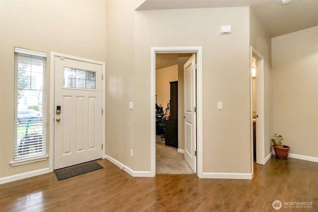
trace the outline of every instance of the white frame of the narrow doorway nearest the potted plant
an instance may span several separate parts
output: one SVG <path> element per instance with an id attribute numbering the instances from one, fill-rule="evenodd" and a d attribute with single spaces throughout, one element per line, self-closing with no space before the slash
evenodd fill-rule
<path id="1" fill-rule="evenodd" d="M 264 112 L 264 57 L 253 47 L 250 47 L 250 70 L 252 58 L 256 59 L 256 163 L 265 164 L 265 112 Z M 251 96 L 251 166 L 253 170 L 253 110 L 252 110 L 252 74 L 250 73 L 250 96 Z"/>

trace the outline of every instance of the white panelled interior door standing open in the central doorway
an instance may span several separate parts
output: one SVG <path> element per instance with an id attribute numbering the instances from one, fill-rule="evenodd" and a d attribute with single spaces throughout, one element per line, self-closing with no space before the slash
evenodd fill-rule
<path id="1" fill-rule="evenodd" d="M 184 64 L 184 158 L 194 172 L 197 171 L 196 157 L 196 55 Z"/>

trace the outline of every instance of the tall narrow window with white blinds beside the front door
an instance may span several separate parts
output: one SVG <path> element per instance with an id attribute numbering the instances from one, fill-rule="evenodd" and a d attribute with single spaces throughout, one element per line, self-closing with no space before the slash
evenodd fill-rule
<path id="1" fill-rule="evenodd" d="M 14 160 L 46 154 L 47 54 L 14 48 Z"/>

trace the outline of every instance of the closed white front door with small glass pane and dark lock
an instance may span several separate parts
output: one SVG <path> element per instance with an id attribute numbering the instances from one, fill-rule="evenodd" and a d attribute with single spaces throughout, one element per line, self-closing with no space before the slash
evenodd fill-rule
<path id="1" fill-rule="evenodd" d="M 54 58 L 54 169 L 102 156 L 102 66 Z"/>

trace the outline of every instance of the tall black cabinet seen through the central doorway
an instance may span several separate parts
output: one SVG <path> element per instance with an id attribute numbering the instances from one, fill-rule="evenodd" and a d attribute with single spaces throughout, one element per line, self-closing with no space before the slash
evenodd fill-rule
<path id="1" fill-rule="evenodd" d="M 164 142 L 178 148 L 178 81 L 170 82 L 170 118 L 165 124 Z"/>

